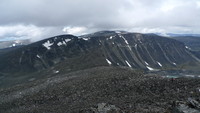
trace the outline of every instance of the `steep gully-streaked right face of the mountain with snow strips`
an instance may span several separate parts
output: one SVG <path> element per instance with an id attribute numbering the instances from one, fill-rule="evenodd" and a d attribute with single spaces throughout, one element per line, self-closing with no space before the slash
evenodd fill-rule
<path id="1" fill-rule="evenodd" d="M 93 38 L 112 65 L 153 70 L 198 62 L 183 43 L 157 35 L 122 32 Z"/>

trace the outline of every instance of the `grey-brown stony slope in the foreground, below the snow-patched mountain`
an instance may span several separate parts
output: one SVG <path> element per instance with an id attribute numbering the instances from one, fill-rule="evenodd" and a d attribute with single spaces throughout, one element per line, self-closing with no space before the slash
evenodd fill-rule
<path id="1" fill-rule="evenodd" d="M 98 67 L 0 90 L 0 113 L 199 113 L 200 79 Z"/>

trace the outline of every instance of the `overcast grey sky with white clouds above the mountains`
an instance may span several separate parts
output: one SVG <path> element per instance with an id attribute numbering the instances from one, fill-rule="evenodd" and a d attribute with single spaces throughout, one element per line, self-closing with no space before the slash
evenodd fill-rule
<path id="1" fill-rule="evenodd" d="M 200 34 L 200 0 L 0 0 L 0 40 L 99 30 Z"/>

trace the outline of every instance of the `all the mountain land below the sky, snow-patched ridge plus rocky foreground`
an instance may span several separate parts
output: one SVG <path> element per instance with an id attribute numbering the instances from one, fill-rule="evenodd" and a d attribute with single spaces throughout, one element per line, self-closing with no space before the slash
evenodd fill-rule
<path id="1" fill-rule="evenodd" d="M 198 113 L 199 58 L 171 37 L 125 31 L 2 49 L 0 112 Z"/>

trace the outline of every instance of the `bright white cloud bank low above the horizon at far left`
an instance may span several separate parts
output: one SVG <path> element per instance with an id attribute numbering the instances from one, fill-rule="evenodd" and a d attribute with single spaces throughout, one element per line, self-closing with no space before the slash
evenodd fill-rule
<path id="1" fill-rule="evenodd" d="M 0 26 L 1 40 L 30 39 L 37 41 L 53 35 L 61 34 L 61 29 L 53 27 L 37 27 L 35 25 Z"/>

